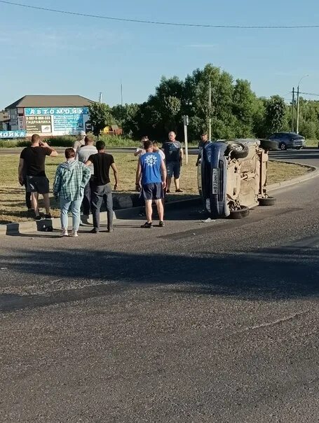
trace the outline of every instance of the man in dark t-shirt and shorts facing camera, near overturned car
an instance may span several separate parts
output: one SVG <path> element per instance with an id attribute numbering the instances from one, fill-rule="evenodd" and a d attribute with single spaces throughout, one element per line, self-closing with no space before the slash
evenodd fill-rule
<path id="1" fill-rule="evenodd" d="M 183 160 L 183 148 L 179 141 L 176 141 L 175 132 L 171 131 L 168 134 L 169 141 L 163 144 L 163 151 L 165 153 L 165 165 L 168 172 L 168 183 L 166 187 L 166 193 L 170 193 L 170 184 L 172 183 L 172 177 L 174 176 L 175 193 L 182 193 L 183 191 L 179 188 L 179 176 L 181 173 L 181 166 Z"/>

